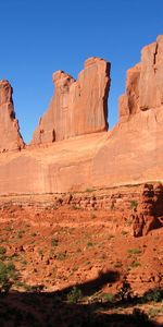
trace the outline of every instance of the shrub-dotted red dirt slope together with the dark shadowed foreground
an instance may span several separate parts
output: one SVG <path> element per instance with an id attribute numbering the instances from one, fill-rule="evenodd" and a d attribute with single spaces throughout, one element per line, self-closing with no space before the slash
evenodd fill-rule
<path id="1" fill-rule="evenodd" d="M 1 326 L 148 326 L 139 310 L 162 326 L 163 303 L 140 301 L 162 289 L 162 238 L 163 228 L 134 238 L 113 210 L 1 207 L 0 259 L 17 271 Z"/>

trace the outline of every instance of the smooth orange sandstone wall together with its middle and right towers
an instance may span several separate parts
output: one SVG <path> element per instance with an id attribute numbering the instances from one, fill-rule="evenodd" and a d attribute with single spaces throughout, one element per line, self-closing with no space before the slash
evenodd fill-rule
<path id="1" fill-rule="evenodd" d="M 0 194 L 163 181 L 163 36 L 145 47 L 141 62 L 127 72 L 120 122 L 112 131 L 105 132 L 105 61 L 86 61 L 78 81 L 63 72 L 53 78 L 55 95 L 34 134 L 34 146 L 0 156 Z M 104 132 L 95 133 L 99 131 Z M 51 144 L 35 147 L 41 143 Z"/>

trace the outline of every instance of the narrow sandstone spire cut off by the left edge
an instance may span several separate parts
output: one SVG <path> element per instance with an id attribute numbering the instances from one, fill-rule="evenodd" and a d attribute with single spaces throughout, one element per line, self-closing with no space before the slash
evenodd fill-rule
<path id="1" fill-rule="evenodd" d="M 8 81 L 0 81 L 0 152 L 23 147 L 18 121 L 15 119 L 12 87 Z"/>

